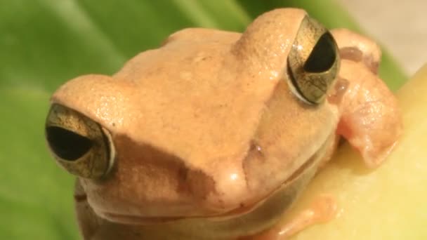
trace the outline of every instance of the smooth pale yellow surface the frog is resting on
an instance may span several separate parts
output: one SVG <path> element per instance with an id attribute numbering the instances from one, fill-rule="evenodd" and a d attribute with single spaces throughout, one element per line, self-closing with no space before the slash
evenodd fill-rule
<path id="1" fill-rule="evenodd" d="M 427 239 L 427 65 L 397 95 L 405 132 L 386 163 L 369 171 L 341 147 L 295 206 L 331 194 L 337 217 L 292 239 Z"/>

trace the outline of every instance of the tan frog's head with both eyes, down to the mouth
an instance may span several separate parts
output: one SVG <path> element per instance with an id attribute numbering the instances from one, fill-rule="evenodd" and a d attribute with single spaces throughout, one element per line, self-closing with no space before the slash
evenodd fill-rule
<path id="1" fill-rule="evenodd" d="M 61 86 L 48 145 L 110 220 L 241 214 L 323 154 L 337 52 L 298 9 L 265 13 L 243 34 L 184 29 L 114 76 Z"/>

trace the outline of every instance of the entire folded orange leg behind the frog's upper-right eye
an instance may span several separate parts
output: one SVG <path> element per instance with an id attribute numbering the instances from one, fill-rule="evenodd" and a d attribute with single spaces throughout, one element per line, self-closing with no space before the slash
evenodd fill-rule
<path id="1" fill-rule="evenodd" d="M 379 166 L 402 133 L 398 102 L 377 76 L 381 50 L 347 29 L 331 32 L 341 56 L 338 82 L 346 83 L 337 133 L 362 154 L 367 166 Z"/>

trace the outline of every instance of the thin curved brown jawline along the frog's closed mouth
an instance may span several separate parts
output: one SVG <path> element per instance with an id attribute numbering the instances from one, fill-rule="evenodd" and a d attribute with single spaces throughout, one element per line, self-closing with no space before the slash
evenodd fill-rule
<path id="1" fill-rule="evenodd" d="M 310 182 L 310 180 L 317 172 L 317 168 L 324 159 L 325 152 L 327 152 L 327 149 L 333 145 L 335 137 L 335 133 L 331 133 L 331 135 L 326 138 L 322 146 L 317 149 L 317 152 L 315 152 L 315 154 L 313 154 L 313 156 L 311 156 L 305 164 L 298 168 L 298 170 L 293 175 L 291 175 L 290 178 L 285 180 L 278 189 L 273 190 L 270 194 L 265 196 L 263 200 L 258 201 L 251 206 L 236 208 L 221 215 L 211 216 L 171 216 L 157 218 L 142 217 L 139 215 L 122 215 L 107 212 L 103 212 L 102 215 L 104 215 L 105 218 L 112 220 L 113 222 L 132 225 L 152 225 L 183 219 L 210 220 L 211 222 L 216 222 L 219 225 L 230 225 L 230 222 L 240 222 L 240 220 L 248 222 L 248 220 L 246 220 L 247 218 L 250 219 L 249 222 L 254 221 L 256 218 L 253 218 L 253 215 L 257 215 L 263 211 L 271 211 L 271 209 L 275 209 L 274 213 L 272 213 L 273 216 L 271 217 L 274 220 L 277 218 L 275 215 L 282 215 L 283 212 L 291 206 L 291 204 L 303 191 L 303 189 L 305 189 L 308 182 Z M 258 220 L 255 220 L 255 222 L 258 222 Z"/>

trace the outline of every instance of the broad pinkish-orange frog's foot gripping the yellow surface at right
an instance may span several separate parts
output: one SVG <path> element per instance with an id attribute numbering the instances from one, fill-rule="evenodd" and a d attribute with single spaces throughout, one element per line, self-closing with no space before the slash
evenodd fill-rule
<path id="1" fill-rule="evenodd" d="M 340 105 L 337 133 L 362 154 L 367 166 L 379 166 L 402 133 L 398 101 L 360 62 L 342 60 L 339 77 L 349 84 Z"/>

